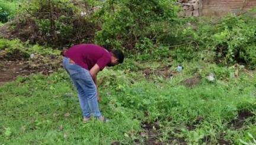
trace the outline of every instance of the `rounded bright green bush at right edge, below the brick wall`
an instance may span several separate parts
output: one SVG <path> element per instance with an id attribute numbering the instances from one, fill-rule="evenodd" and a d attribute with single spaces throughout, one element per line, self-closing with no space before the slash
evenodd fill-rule
<path id="1" fill-rule="evenodd" d="M 242 62 L 255 67 L 255 22 L 253 17 L 247 16 L 224 18 L 213 36 L 217 56 L 225 57 L 225 63 Z"/>

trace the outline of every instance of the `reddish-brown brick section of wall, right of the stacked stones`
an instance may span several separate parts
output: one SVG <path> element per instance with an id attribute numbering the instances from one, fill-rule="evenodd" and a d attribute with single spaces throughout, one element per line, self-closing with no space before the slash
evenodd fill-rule
<path id="1" fill-rule="evenodd" d="M 238 14 L 256 7 L 256 0 L 201 0 L 201 14 L 223 15 L 228 12 Z"/>

